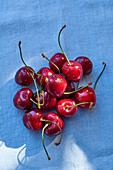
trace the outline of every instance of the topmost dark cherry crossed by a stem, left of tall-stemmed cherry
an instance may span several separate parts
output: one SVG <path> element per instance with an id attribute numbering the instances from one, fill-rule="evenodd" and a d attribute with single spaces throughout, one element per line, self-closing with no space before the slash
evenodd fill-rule
<path id="1" fill-rule="evenodd" d="M 64 54 L 62 53 L 56 53 L 54 56 L 52 56 L 52 58 L 50 59 L 50 61 L 52 61 L 60 70 L 60 72 L 62 72 L 62 65 L 67 61 L 66 57 L 64 56 Z M 53 70 L 55 73 L 59 73 L 58 69 L 51 63 L 49 62 L 49 67 L 51 68 L 51 70 Z"/>

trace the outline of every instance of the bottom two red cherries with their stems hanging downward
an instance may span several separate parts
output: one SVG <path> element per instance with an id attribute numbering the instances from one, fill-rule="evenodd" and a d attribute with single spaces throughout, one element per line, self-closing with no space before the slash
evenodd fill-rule
<path id="1" fill-rule="evenodd" d="M 49 136 L 58 135 L 61 133 L 60 140 L 55 143 L 55 145 L 59 145 L 62 139 L 62 130 L 64 129 L 63 119 L 53 112 L 47 113 L 44 116 L 43 112 L 40 109 L 34 108 L 24 113 L 23 123 L 30 130 L 40 130 L 43 127 L 42 144 L 48 160 L 50 160 L 50 156 L 44 144 L 44 132 Z"/>

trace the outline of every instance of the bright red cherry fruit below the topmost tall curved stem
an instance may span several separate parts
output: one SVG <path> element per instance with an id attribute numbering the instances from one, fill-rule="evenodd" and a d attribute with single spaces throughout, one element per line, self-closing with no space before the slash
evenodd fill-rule
<path id="1" fill-rule="evenodd" d="M 62 66 L 62 73 L 66 77 L 66 79 L 73 81 L 73 82 L 78 82 L 82 78 L 83 75 L 83 69 L 81 64 L 77 63 L 76 61 L 69 61 L 70 65 L 68 62 L 65 62 Z"/>

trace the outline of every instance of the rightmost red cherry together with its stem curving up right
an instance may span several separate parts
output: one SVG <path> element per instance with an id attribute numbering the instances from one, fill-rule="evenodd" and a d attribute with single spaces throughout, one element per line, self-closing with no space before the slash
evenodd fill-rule
<path id="1" fill-rule="evenodd" d="M 94 84 L 94 88 L 91 88 L 91 87 L 85 87 L 79 91 L 77 91 L 74 95 L 74 98 L 75 98 L 75 102 L 76 103 L 83 103 L 83 102 L 90 102 L 90 104 L 82 104 L 80 105 L 79 107 L 81 108 L 91 108 L 95 105 L 96 103 L 96 95 L 95 95 L 95 88 L 96 88 L 96 85 L 97 85 L 97 82 L 99 80 L 99 78 L 101 77 L 105 67 L 106 67 L 106 63 L 102 63 L 104 64 L 104 68 L 103 70 L 101 71 L 101 73 L 99 74 L 95 84 Z"/>

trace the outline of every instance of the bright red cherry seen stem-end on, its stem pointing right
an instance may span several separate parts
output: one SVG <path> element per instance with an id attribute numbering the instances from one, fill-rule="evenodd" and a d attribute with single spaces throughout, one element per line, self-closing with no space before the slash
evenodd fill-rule
<path id="1" fill-rule="evenodd" d="M 73 106 L 73 105 L 76 105 L 74 100 L 62 99 L 57 103 L 56 111 L 59 115 L 61 115 L 63 117 L 70 117 L 70 116 L 74 115 L 78 110 L 77 106 L 68 107 L 68 106 Z"/>

